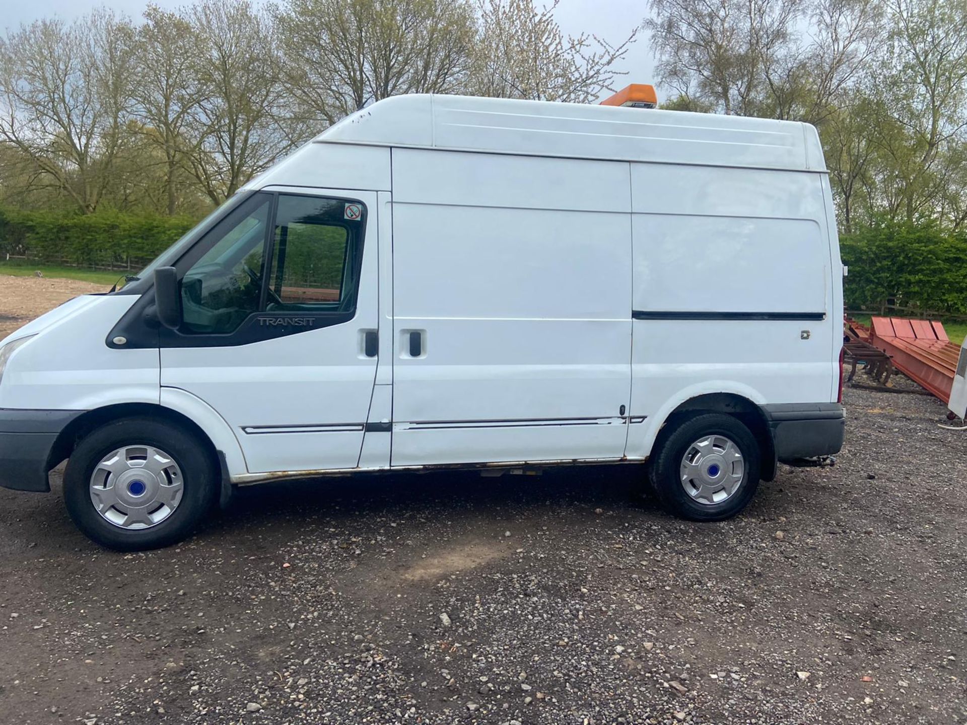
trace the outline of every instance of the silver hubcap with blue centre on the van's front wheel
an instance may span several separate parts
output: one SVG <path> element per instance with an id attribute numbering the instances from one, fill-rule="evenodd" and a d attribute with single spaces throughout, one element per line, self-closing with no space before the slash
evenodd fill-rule
<path id="1" fill-rule="evenodd" d="M 122 529 L 160 524 L 181 503 L 181 469 L 161 449 L 125 446 L 105 455 L 91 475 L 91 503 Z"/>

